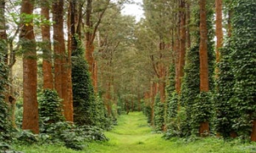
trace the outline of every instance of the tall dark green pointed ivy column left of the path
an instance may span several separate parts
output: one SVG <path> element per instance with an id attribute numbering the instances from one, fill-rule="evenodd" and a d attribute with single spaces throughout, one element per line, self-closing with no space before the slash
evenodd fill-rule
<path id="1" fill-rule="evenodd" d="M 83 53 L 79 46 L 72 54 L 73 120 L 78 125 L 96 125 L 96 98 Z"/>

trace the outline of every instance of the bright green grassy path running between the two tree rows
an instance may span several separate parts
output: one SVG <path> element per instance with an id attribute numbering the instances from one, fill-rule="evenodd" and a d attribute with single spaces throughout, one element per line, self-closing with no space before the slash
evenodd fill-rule
<path id="1" fill-rule="evenodd" d="M 90 152 L 104 153 L 170 153 L 170 142 L 161 139 L 161 134 L 152 133 L 142 112 L 130 112 L 119 116 L 118 126 L 105 133 L 107 143 L 90 144 Z"/>

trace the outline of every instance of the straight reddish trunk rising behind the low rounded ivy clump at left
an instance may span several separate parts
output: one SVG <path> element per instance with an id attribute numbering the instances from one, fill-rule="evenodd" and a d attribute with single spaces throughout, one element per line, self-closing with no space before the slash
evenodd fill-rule
<path id="1" fill-rule="evenodd" d="M 41 15 L 43 20 L 49 20 L 49 3 L 44 0 L 41 7 Z M 44 89 L 53 89 L 53 75 L 52 75 L 52 59 L 51 59 L 51 45 L 50 45 L 50 33 L 49 25 L 45 24 L 41 26 L 42 38 L 43 38 L 43 74 L 44 74 Z"/>

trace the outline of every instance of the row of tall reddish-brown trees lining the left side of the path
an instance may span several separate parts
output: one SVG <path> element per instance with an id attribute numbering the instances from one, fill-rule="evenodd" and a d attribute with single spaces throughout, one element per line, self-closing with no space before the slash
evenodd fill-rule
<path id="1" fill-rule="evenodd" d="M 62 112 L 64 121 L 102 128 L 112 124 L 117 101 L 128 99 L 113 87 L 119 83 L 114 82 L 114 71 L 122 69 L 118 54 L 123 56 L 122 50 L 125 52 L 131 43 L 128 37 L 135 23 L 133 17 L 121 14 L 123 3 L 124 0 L 1 1 L 1 133 L 17 127 L 15 98 L 20 95 L 13 83 L 14 71 L 23 71 L 22 129 L 39 133 L 39 119 L 60 118 L 54 111 L 52 116 L 45 111 L 47 100 L 49 106 L 59 102 L 55 92 L 49 90 L 55 90 L 61 98 L 57 112 Z M 20 14 L 10 13 L 19 10 Z M 131 28 L 124 31 L 125 26 Z M 20 57 L 22 70 L 15 70 Z M 44 94 L 40 94 L 43 89 Z M 47 123 L 63 121 L 49 118 Z"/>

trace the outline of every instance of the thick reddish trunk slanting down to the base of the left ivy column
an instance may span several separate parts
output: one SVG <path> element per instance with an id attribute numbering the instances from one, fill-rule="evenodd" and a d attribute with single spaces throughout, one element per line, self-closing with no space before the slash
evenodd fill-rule
<path id="1" fill-rule="evenodd" d="M 65 51 L 65 40 L 63 31 L 63 0 L 53 3 L 54 24 L 54 51 L 55 51 L 55 89 L 63 99 L 63 114 L 68 122 L 73 122 L 73 104 L 68 92 L 68 57 Z"/>

